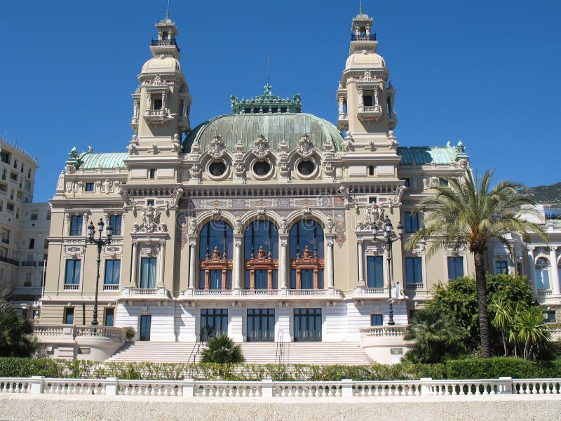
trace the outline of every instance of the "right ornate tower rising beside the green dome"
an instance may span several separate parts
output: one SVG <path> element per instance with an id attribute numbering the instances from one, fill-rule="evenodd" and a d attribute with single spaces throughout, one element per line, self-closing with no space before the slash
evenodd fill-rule
<path id="1" fill-rule="evenodd" d="M 376 53 L 378 41 L 372 22 L 361 6 L 353 18 L 349 58 L 337 89 L 337 128 L 347 131 L 349 142 L 372 145 L 374 150 L 396 143 L 393 133 L 388 132 L 396 127 L 397 119 L 393 109 L 396 91 L 388 81 L 384 58 Z"/>

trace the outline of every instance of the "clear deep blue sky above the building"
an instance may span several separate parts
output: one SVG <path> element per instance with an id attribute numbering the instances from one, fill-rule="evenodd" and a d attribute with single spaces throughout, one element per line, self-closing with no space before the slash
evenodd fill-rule
<path id="1" fill-rule="evenodd" d="M 130 94 L 160 1 L 3 1 L 0 133 L 39 158 L 35 201 L 50 199 L 69 150 L 123 151 Z M 195 126 L 230 112 L 231 94 L 302 93 L 304 112 L 337 119 L 335 90 L 359 1 L 180 1 L 182 67 Z M 561 1 L 374 1 L 378 52 L 397 89 L 401 145 L 462 140 L 496 180 L 558 182 Z"/>

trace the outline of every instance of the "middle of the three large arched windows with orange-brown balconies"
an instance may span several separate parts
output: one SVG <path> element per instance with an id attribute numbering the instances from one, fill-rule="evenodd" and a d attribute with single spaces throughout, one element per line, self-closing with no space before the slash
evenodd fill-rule
<path id="1" fill-rule="evenodd" d="M 278 230 L 269 221 L 255 221 L 245 230 L 245 289 L 278 288 Z"/>

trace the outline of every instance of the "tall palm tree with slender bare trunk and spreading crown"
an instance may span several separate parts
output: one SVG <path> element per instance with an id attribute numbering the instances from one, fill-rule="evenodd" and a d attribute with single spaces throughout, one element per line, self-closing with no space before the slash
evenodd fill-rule
<path id="1" fill-rule="evenodd" d="M 520 194 L 521 185 L 501 181 L 490 188 L 494 171 L 485 171 L 482 178 L 473 179 L 466 171 L 461 179 L 448 178 L 448 185 L 435 187 L 436 194 L 427 197 L 417 206 L 418 213 L 425 214 L 424 227 L 406 242 L 407 248 L 423 240 L 431 240 L 427 250 L 430 257 L 442 247 L 458 250 L 468 246 L 475 260 L 475 283 L 478 294 L 478 319 L 483 358 L 491 356 L 491 335 L 487 313 L 485 290 L 485 262 L 483 255 L 491 239 L 497 239 L 513 250 L 506 240 L 509 232 L 527 236 L 535 232 L 546 241 L 543 228 L 521 217 L 522 213 L 534 214 L 534 201 Z"/>

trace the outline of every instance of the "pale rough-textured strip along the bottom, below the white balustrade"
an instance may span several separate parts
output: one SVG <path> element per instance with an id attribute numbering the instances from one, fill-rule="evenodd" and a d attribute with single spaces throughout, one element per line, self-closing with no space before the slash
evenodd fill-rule
<path id="1" fill-rule="evenodd" d="M 0 394 L 0 420 L 561 420 L 561 395 L 187 398 Z"/>

